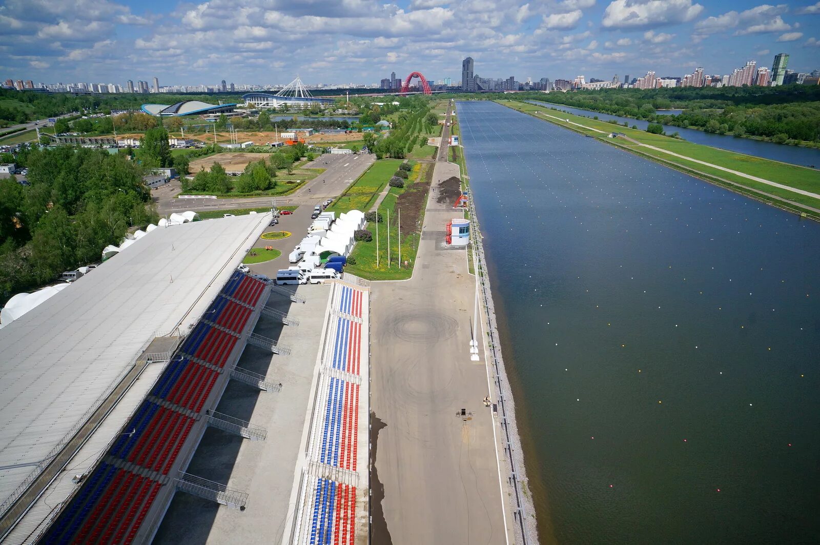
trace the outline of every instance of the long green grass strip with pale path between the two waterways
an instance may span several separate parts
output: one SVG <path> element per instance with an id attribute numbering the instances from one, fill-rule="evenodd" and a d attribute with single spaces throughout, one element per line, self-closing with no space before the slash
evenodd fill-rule
<path id="1" fill-rule="evenodd" d="M 778 184 L 788 185 L 790 187 L 794 187 L 795 189 L 820 193 L 820 171 L 812 168 L 799 167 L 788 163 L 779 163 L 769 159 L 753 157 L 742 153 L 735 153 L 725 149 L 712 148 L 702 144 L 692 144 L 686 140 L 678 140 L 663 135 L 653 135 L 646 131 L 631 129 L 625 126 L 617 126 L 605 121 L 597 121 L 588 117 L 576 116 L 567 112 L 555 112 L 553 110 L 549 110 L 548 108 L 535 106 L 534 104 L 518 103 L 509 100 L 499 100 L 498 102 L 520 112 L 534 114 L 536 117 L 553 122 L 556 125 L 567 126 L 574 131 L 602 139 L 607 141 L 609 144 L 615 144 L 624 149 L 630 149 L 635 153 L 640 153 L 649 158 L 659 159 L 664 163 L 676 164 L 686 169 L 687 172 L 693 173 L 695 176 L 698 176 L 699 173 L 703 173 L 707 175 L 708 178 L 722 178 L 723 180 L 744 185 L 751 190 L 768 193 L 770 195 L 777 195 L 778 197 L 789 199 L 794 203 L 806 204 L 813 208 L 820 208 L 820 199 L 814 199 L 805 195 L 799 195 L 790 190 L 772 187 L 771 185 L 749 180 L 743 176 L 736 176 L 730 172 L 723 172 L 717 168 L 687 161 L 685 158 L 676 158 L 668 153 L 648 149 L 644 146 L 636 145 L 622 138 L 609 139 L 599 132 L 585 130 L 584 128 L 576 125 L 568 125 L 565 121 L 559 121 L 553 119 L 553 117 L 544 117 L 543 114 L 560 117 L 562 119 L 569 119 L 571 122 L 579 123 L 583 126 L 597 129 L 598 131 L 604 131 L 606 133 L 613 131 L 620 132 L 632 140 L 640 142 L 641 144 L 652 145 L 659 149 L 671 151 L 672 153 L 679 153 L 688 158 L 697 159 L 706 163 L 712 163 L 724 168 L 731 168 L 731 170 L 735 170 L 737 172 L 743 172 L 745 174 L 749 174 L 750 176 L 757 176 L 768 181 L 777 182 Z M 535 112 L 538 113 L 536 114 Z"/>

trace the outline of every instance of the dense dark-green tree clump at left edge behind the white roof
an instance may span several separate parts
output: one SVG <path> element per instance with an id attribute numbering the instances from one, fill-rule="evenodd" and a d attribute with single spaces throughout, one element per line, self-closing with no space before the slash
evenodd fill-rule
<path id="1" fill-rule="evenodd" d="M 27 184 L 0 180 L 0 303 L 98 262 L 131 226 L 157 221 L 145 167 L 99 149 L 22 149 Z"/>

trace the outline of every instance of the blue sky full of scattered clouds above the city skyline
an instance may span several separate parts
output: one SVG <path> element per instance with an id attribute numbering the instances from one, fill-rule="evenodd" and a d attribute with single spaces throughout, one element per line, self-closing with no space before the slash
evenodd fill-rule
<path id="1" fill-rule="evenodd" d="M 0 0 L 0 80 L 378 83 L 820 68 L 820 2 L 730 0 Z"/>

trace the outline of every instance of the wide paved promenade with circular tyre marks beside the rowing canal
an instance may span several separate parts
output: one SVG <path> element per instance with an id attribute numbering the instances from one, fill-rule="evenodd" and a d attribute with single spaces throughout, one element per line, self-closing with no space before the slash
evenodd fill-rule
<path id="1" fill-rule="evenodd" d="M 485 359 L 469 353 L 475 278 L 444 247 L 452 206 L 435 202 L 449 176 L 458 165 L 436 163 L 412 279 L 371 284 L 372 543 L 507 541 Z"/>

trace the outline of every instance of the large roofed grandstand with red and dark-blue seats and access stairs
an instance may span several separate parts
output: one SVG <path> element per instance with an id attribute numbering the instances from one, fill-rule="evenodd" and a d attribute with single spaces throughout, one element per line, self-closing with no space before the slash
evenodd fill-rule
<path id="1" fill-rule="evenodd" d="M 185 469 L 239 427 L 212 413 L 231 378 L 275 388 L 236 368 L 271 289 L 236 267 L 269 221 L 155 229 L 0 330 L 2 543 L 148 542 L 176 490 L 244 508 Z"/>

